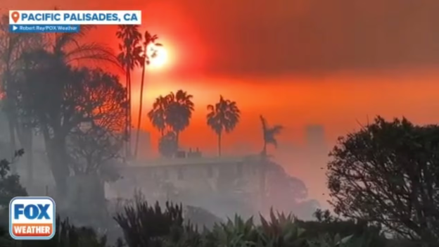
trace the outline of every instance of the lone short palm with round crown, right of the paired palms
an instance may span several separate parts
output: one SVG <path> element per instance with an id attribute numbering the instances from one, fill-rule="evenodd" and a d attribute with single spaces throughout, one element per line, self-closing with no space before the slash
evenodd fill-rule
<path id="1" fill-rule="evenodd" d="M 220 96 L 220 101 L 208 105 L 208 125 L 218 136 L 218 156 L 221 156 L 221 137 L 224 132 L 231 132 L 239 122 L 240 110 L 235 101 L 229 101 Z"/>

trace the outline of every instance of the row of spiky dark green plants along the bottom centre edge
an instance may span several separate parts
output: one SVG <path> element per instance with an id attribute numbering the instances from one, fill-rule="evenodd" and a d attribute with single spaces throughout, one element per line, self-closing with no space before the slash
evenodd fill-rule
<path id="1" fill-rule="evenodd" d="M 292 215 L 270 211 L 269 219 L 260 216 L 261 224 L 253 218 L 217 222 L 212 229 L 199 232 L 192 224 L 185 224 L 182 206 L 166 203 L 162 210 L 158 203 L 136 201 L 125 206 L 115 220 L 122 227 L 129 247 L 381 247 L 386 246 L 379 231 L 366 229 L 342 238 L 341 234 L 315 232 L 306 234 Z M 303 222 L 302 222 L 303 223 Z M 314 222 L 329 224 L 330 222 Z M 308 225 L 309 226 L 309 225 Z M 322 227 L 323 229 L 323 227 Z"/>

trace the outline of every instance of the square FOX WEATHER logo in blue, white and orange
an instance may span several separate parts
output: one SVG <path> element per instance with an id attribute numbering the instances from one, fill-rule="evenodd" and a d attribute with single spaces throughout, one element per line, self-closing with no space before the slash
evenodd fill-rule
<path id="1" fill-rule="evenodd" d="M 55 234 L 55 201 L 42 197 L 15 197 L 9 203 L 9 234 L 18 240 L 45 240 Z"/>

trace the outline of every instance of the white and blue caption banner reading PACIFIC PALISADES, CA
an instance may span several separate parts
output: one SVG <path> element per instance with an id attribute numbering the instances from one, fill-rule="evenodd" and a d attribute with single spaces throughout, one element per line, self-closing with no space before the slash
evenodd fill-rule
<path id="1" fill-rule="evenodd" d="M 141 25 L 141 11 L 9 11 L 9 31 L 79 32 L 81 25 Z"/>

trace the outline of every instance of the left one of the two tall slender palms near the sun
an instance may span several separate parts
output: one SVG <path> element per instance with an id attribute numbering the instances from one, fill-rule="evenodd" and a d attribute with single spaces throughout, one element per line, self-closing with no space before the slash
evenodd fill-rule
<path id="1" fill-rule="evenodd" d="M 131 125 L 132 125 L 132 115 L 131 115 L 131 72 L 136 68 L 136 66 L 142 65 L 141 50 L 141 33 L 139 32 L 138 25 L 119 25 L 116 32 L 117 39 L 120 39 L 121 44 L 119 44 L 120 53 L 117 55 L 117 60 L 120 65 L 125 69 L 125 81 L 127 87 L 127 99 L 128 108 L 126 116 L 126 136 L 127 136 L 127 146 L 125 152 L 127 156 L 131 156 Z"/>

